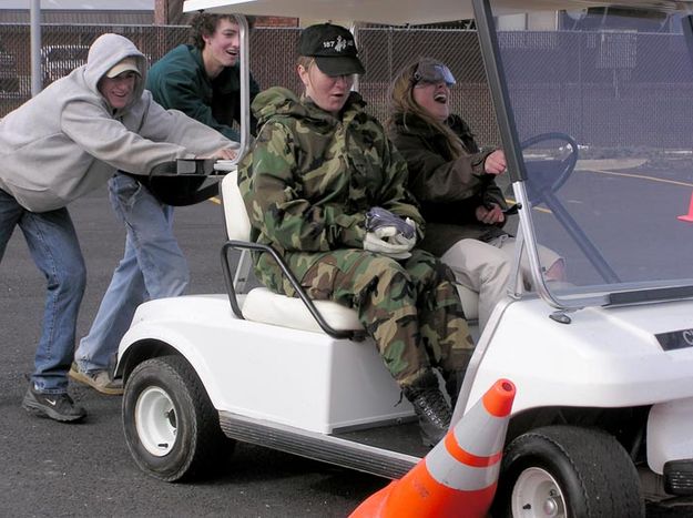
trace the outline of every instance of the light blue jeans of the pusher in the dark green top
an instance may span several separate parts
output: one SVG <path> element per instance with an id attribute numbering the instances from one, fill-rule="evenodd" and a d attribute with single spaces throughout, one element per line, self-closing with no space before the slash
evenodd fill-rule
<path id="1" fill-rule="evenodd" d="M 109 196 L 128 231 L 125 253 L 74 355 L 83 372 L 110 368 L 136 307 L 147 299 L 181 295 L 190 280 L 173 235 L 173 207 L 120 173 L 109 181 Z"/>

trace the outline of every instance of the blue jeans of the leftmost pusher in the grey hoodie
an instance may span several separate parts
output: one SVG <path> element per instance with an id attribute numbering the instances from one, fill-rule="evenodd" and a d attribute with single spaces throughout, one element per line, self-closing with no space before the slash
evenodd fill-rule
<path id="1" fill-rule="evenodd" d="M 48 288 L 31 379 L 39 392 L 62 394 L 68 390 L 77 316 L 86 284 L 84 258 L 67 209 L 29 212 L 0 190 L 0 260 L 16 226 L 24 234 Z"/>

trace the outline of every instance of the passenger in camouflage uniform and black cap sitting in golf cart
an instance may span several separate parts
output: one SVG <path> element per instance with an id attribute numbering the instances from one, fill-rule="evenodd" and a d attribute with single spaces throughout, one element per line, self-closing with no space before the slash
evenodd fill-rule
<path id="1" fill-rule="evenodd" d="M 404 159 L 350 92 L 363 65 L 349 31 L 306 28 L 299 54 L 305 94 L 272 88 L 252 105 L 258 135 L 238 185 L 253 240 L 272 245 L 310 297 L 356 309 L 414 404 L 425 444 L 437 444 L 451 413 L 434 369 L 456 397 L 473 351 L 453 274 L 414 248 L 424 220 L 405 187 Z M 380 227 L 369 219 L 376 213 L 386 219 Z M 295 295 L 268 254 L 255 266 L 268 288 Z"/>

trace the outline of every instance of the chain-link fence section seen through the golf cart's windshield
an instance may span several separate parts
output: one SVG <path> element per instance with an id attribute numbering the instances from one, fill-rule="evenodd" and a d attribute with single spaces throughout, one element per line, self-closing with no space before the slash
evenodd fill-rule
<path id="1" fill-rule="evenodd" d="M 693 150 L 693 71 L 681 34 L 505 32 L 518 133 L 570 133 L 597 149 Z"/>

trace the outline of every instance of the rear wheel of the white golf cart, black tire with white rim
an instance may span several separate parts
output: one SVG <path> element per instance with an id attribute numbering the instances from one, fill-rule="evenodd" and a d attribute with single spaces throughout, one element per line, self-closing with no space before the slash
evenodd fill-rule
<path id="1" fill-rule="evenodd" d="M 165 481 L 215 475 L 235 446 L 197 374 L 180 356 L 151 358 L 133 369 L 123 394 L 123 429 L 137 466 Z"/>

